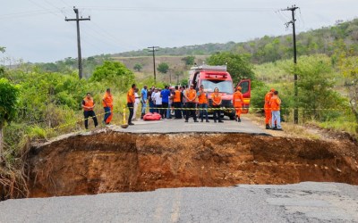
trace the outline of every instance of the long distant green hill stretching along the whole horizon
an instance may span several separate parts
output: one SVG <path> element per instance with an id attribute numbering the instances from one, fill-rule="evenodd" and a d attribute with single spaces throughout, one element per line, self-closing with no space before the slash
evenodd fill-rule
<path id="1" fill-rule="evenodd" d="M 243 43 L 228 42 L 226 44 L 204 44 L 204 45 L 185 45 L 173 48 L 160 48 L 156 53 L 157 64 L 167 62 L 171 68 L 185 70 L 181 59 L 187 55 L 194 55 L 196 62 L 205 62 L 205 59 L 217 52 L 229 51 L 235 54 L 247 54 L 251 57 L 251 62 L 260 64 L 264 62 L 276 62 L 279 60 L 290 59 L 293 57 L 293 37 L 292 35 L 278 37 L 260 37 Z M 334 26 L 312 29 L 297 35 L 297 54 L 327 54 L 331 56 L 337 49 L 347 47 L 352 54 L 358 54 L 358 19 L 353 21 L 337 21 Z M 139 51 L 124 52 L 120 54 L 102 54 L 90 56 L 83 59 L 83 69 L 85 77 L 90 77 L 94 68 L 101 65 L 104 61 L 114 59 L 124 62 L 133 70 L 136 63 L 143 66 L 144 72 L 152 70 L 151 54 L 148 49 Z M 66 58 L 59 62 L 37 63 L 42 70 L 64 71 L 76 70 L 77 60 Z M 335 57 L 332 57 L 335 61 Z M 181 68 L 183 67 L 183 68 Z"/>

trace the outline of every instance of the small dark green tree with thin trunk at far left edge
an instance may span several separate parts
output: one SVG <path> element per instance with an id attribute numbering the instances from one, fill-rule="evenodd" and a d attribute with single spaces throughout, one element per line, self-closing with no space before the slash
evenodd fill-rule
<path id="1" fill-rule="evenodd" d="M 19 87 L 14 86 L 6 78 L 0 78 L 0 161 L 4 146 L 4 124 L 10 123 L 16 117 L 18 97 Z"/>

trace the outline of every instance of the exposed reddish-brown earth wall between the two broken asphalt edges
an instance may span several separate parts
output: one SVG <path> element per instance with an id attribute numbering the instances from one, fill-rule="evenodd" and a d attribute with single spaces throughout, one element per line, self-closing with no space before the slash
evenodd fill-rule
<path id="1" fill-rule="evenodd" d="M 30 196 L 179 186 L 358 185 L 357 145 L 247 134 L 70 136 L 30 150 Z"/>

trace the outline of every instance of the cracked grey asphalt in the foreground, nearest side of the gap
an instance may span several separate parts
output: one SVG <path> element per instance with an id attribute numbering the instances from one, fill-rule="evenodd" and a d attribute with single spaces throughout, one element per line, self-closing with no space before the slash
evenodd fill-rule
<path id="1" fill-rule="evenodd" d="M 358 222 L 358 186 L 158 189 L 7 200 L 0 222 Z"/>

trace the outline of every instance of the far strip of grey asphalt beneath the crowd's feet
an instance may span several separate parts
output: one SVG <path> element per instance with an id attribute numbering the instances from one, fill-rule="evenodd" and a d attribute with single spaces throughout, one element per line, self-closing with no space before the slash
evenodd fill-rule
<path id="1" fill-rule="evenodd" d="M 199 120 L 200 121 L 200 120 Z M 215 123 L 214 120 L 208 122 L 194 122 L 192 118 L 189 122 L 184 120 L 152 120 L 133 121 L 134 126 L 128 128 L 112 127 L 118 131 L 135 133 L 173 133 L 173 132 L 240 132 L 250 134 L 266 134 L 265 130 L 252 123 L 250 119 L 243 117 L 242 122 L 224 119 L 224 123 Z"/>

